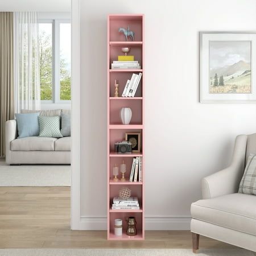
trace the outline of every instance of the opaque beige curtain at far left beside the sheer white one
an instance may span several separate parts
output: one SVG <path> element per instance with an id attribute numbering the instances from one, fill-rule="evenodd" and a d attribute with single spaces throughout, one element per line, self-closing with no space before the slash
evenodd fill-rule
<path id="1" fill-rule="evenodd" d="M 0 157 L 5 156 L 5 123 L 13 118 L 13 13 L 0 12 Z"/>

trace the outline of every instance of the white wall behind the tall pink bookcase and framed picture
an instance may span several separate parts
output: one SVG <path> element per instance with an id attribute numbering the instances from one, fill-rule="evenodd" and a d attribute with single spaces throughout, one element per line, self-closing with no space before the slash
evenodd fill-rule
<path id="1" fill-rule="evenodd" d="M 85 228 L 105 227 L 106 17 L 114 13 L 145 14 L 146 226 L 189 228 L 201 177 L 229 164 L 236 135 L 256 131 L 256 104 L 199 103 L 199 32 L 256 30 L 255 1 L 81 1 L 80 10 L 81 216 L 95 221 Z"/>

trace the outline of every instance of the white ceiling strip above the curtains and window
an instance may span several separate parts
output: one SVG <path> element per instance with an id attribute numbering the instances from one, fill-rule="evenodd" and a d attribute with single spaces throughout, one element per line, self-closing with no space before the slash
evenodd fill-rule
<path id="1" fill-rule="evenodd" d="M 71 0 L 0 0 L 0 11 L 70 12 Z"/>

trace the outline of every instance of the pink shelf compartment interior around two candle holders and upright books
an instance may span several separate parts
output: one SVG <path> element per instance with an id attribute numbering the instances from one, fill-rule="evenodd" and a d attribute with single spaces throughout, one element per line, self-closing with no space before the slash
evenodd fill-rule
<path id="1" fill-rule="evenodd" d="M 126 172 L 125 172 L 126 181 L 123 181 L 123 183 L 127 183 L 127 185 L 141 185 L 142 184 L 141 182 L 138 182 L 138 181 L 130 182 L 129 181 L 130 180 L 130 174 L 131 174 L 131 166 L 133 164 L 133 156 L 131 156 L 129 158 L 127 158 L 127 157 L 124 157 L 124 158 L 122 158 L 122 157 L 114 157 L 114 158 L 111 158 L 109 160 L 109 177 L 110 177 L 110 183 L 112 183 L 111 185 L 118 185 L 119 183 L 121 183 L 121 185 L 123 185 L 122 181 L 120 180 L 121 177 L 122 177 L 122 173 L 120 172 L 120 164 L 122 164 L 123 161 L 126 164 Z M 118 175 L 119 181 L 118 182 L 117 181 L 113 181 L 113 167 L 114 167 L 115 164 L 117 164 L 117 166 L 119 167 L 119 175 Z M 142 166 L 142 170 L 143 170 L 143 166 Z M 143 172 L 142 172 L 142 175 L 143 175 Z"/>

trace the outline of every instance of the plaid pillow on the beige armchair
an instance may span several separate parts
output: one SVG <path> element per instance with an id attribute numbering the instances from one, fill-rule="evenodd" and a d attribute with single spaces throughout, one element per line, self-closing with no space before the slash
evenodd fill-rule
<path id="1" fill-rule="evenodd" d="M 238 193 L 256 196 L 256 155 L 249 155 Z"/>

